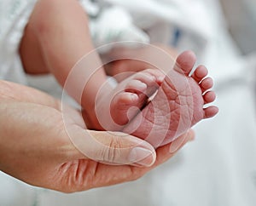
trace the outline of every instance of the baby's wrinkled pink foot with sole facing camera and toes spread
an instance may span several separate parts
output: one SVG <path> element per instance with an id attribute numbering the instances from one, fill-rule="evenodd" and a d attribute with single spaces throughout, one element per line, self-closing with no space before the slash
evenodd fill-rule
<path id="1" fill-rule="evenodd" d="M 158 147 L 175 140 L 201 119 L 215 116 L 218 107 L 204 108 L 215 100 L 215 93 L 209 91 L 212 78 L 207 77 L 205 66 L 198 66 L 190 77 L 194 65 L 195 54 L 180 54 L 154 99 L 123 131 Z"/>

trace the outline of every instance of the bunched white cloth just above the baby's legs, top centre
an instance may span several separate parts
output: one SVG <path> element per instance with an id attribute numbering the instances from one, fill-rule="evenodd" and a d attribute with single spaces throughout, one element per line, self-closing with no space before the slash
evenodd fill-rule
<path id="1" fill-rule="evenodd" d="M 125 9 L 118 6 L 102 9 L 98 18 L 90 20 L 90 33 L 97 48 L 123 41 L 149 43 L 148 35 L 132 23 L 131 15 Z M 124 46 L 127 45 L 139 47 L 137 43 L 124 43 Z M 113 45 L 109 44 L 100 52 L 105 54 L 112 48 Z"/>

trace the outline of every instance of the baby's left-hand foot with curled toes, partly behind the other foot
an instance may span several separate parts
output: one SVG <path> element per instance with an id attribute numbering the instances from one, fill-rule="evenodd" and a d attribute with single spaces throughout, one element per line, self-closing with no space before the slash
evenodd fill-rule
<path id="1" fill-rule="evenodd" d="M 130 77 L 119 83 L 110 94 L 100 91 L 100 98 L 96 100 L 96 116 L 102 129 L 122 130 L 147 104 L 148 97 L 159 89 L 164 77 L 162 72 L 154 69 L 130 72 Z"/>

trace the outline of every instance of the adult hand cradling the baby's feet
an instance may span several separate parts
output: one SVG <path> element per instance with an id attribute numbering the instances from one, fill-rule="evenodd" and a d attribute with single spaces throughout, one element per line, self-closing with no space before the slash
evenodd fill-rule
<path id="1" fill-rule="evenodd" d="M 33 186 L 61 192 L 79 192 L 136 180 L 171 158 L 194 137 L 189 131 L 154 152 L 147 142 L 131 135 L 123 138 L 120 133 L 88 131 L 102 146 L 84 149 L 100 163 L 86 157 L 73 145 L 62 119 L 61 103 L 48 94 L 0 81 L 0 113 L 0 169 Z M 77 131 L 73 138 L 84 135 L 85 140 L 79 112 L 70 108 L 69 117 L 68 127 Z M 133 165 L 104 164 L 127 162 L 131 150 L 122 148 L 137 146 L 149 151 L 148 157 L 142 159 L 137 153 L 133 155 Z"/>

